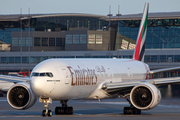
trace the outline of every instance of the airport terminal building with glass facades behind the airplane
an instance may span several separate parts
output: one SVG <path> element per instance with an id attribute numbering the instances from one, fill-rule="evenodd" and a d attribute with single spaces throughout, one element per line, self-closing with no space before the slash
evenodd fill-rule
<path id="1" fill-rule="evenodd" d="M 48 58 L 132 58 L 141 17 L 0 15 L 0 71 L 27 71 L 29 62 L 32 69 Z M 149 13 L 144 60 L 151 69 L 180 66 L 179 18 L 180 12 Z"/>

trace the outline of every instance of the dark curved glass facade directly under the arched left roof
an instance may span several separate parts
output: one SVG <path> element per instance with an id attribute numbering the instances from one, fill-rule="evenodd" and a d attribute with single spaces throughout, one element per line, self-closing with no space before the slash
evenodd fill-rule
<path id="1" fill-rule="evenodd" d="M 68 31 L 69 28 L 89 28 L 89 30 L 98 30 L 106 26 L 108 22 L 98 17 L 57 16 L 35 18 L 32 19 L 31 24 L 31 26 L 35 27 L 35 31 Z"/>

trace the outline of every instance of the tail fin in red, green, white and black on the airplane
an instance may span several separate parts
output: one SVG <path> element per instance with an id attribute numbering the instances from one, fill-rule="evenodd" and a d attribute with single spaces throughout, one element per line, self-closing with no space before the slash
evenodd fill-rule
<path id="1" fill-rule="evenodd" d="M 148 21 L 148 9 L 149 9 L 149 3 L 146 3 L 144 7 L 143 16 L 141 19 L 137 41 L 136 41 L 136 48 L 133 55 L 134 60 L 139 60 L 139 61 L 144 60 L 145 39 L 146 39 L 147 21 Z"/>

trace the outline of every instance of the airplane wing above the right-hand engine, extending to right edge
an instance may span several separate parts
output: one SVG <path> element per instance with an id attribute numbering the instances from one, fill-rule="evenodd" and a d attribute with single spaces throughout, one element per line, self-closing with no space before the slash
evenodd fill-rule
<path id="1" fill-rule="evenodd" d="M 132 82 L 105 83 L 103 84 L 102 89 L 109 94 L 129 93 L 134 86 L 144 82 L 149 82 L 153 85 L 173 84 L 173 83 L 180 83 L 180 77 L 158 78 L 158 79 L 140 80 L 140 81 L 132 81 Z"/>

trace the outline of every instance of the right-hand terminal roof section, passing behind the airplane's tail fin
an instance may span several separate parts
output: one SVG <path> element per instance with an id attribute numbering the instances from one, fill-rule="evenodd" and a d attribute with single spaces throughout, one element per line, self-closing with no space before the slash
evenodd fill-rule
<path id="1" fill-rule="evenodd" d="M 102 18 L 104 20 L 116 21 L 116 20 L 141 20 L 142 13 L 139 14 L 128 14 L 121 16 L 111 16 Z M 148 19 L 180 19 L 180 12 L 161 12 L 161 13 L 149 13 Z"/>

